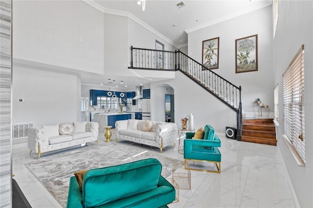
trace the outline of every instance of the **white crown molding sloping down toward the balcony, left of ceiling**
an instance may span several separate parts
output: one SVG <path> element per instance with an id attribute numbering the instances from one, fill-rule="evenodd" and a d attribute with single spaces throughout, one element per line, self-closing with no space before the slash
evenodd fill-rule
<path id="1" fill-rule="evenodd" d="M 90 6 L 92 6 L 93 8 L 95 8 L 97 10 L 99 10 L 102 13 L 128 17 L 129 19 L 133 20 L 134 22 L 138 23 L 139 25 L 141 25 L 142 27 L 146 28 L 150 32 L 154 33 L 156 36 L 160 37 L 164 41 L 166 41 L 166 42 L 170 43 L 171 45 L 173 45 L 173 46 L 178 48 L 178 45 L 176 45 L 175 42 L 173 42 L 170 39 L 166 38 L 164 35 L 162 35 L 161 33 L 157 32 L 154 28 L 152 28 L 151 26 L 149 26 L 145 22 L 139 20 L 138 18 L 136 18 L 133 14 L 131 14 L 129 12 L 113 10 L 113 9 L 106 9 L 103 6 L 99 5 L 98 3 L 94 2 L 93 0 L 82 0 L 82 1 L 84 1 L 87 4 L 89 4 Z"/>

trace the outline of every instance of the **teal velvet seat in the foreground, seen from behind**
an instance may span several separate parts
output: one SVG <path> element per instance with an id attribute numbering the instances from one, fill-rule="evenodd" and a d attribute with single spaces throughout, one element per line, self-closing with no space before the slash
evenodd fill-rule
<path id="1" fill-rule="evenodd" d="M 155 159 L 88 170 L 82 190 L 70 178 L 67 208 L 159 208 L 175 201 L 175 188 Z"/>

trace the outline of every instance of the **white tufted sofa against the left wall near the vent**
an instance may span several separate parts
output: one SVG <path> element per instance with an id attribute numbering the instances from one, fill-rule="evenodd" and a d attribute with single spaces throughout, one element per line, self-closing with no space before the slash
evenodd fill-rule
<path id="1" fill-rule="evenodd" d="M 73 122 L 56 125 L 34 126 L 28 129 L 28 148 L 38 153 L 81 145 L 98 144 L 99 125 L 96 122 Z"/>

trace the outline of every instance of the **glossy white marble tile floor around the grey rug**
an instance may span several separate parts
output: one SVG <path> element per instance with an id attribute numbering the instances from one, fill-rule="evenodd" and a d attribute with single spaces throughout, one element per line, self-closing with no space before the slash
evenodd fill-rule
<path id="1" fill-rule="evenodd" d="M 191 189 L 180 189 L 179 202 L 169 204 L 169 208 L 295 207 L 297 203 L 292 199 L 287 175 L 276 146 L 239 142 L 221 134 L 219 137 L 222 143 L 221 174 L 191 170 Z M 114 131 L 112 138 L 116 142 Z M 99 143 L 104 141 L 104 135 L 100 133 Z M 176 141 L 176 146 L 164 147 L 163 153 L 157 147 L 124 140 L 118 140 L 117 143 L 184 160 L 183 154 L 178 152 L 179 140 Z M 88 144 L 93 145 L 96 144 Z M 62 151 L 54 154 L 62 154 Z M 12 169 L 15 180 L 33 208 L 61 208 L 58 201 L 24 166 L 24 163 L 34 160 L 37 160 L 37 155 L 32 153 L 30 156 L 27 147 L 13 148 Z"/>

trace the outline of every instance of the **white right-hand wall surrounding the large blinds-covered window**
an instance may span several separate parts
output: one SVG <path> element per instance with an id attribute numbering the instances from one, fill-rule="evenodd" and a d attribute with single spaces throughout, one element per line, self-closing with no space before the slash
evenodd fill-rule
<path id="1" fill-rule="evenodd" d="M 313 1 L 278 1 L 278 22 L 273 41 L 273 84 L 279 86 L 277 146 L 283 156 L 300 207 L 313 207 Z M 283 123 L 283 73 L 300 46 L 305 50 L 305 140 L 306 165 L 298 166 L 281 137 Z"/>

